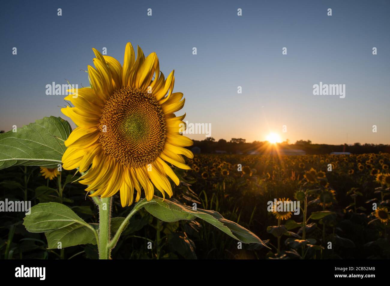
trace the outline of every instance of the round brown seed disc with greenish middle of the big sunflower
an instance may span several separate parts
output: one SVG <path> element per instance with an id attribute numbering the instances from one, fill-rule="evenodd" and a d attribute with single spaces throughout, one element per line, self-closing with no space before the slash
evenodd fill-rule
<path id="1" fill-rule="evenodd" d="M 100 118 L 99 142 L 108 155 L 128 167 L 154 161 L 165 144 L 167 128 L 151 93 L 124 87 L 108 98 Z"/>

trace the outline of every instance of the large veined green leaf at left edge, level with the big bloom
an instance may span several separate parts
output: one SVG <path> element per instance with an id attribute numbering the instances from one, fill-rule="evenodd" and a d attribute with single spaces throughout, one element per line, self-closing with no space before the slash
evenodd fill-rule
<path id="1" fill-rule="evenodd" d="M 0 169 L 17 165 L 57 167 L 72 128 L 66 120 L 50 116 L 16 131 L 0 134 Z"/>

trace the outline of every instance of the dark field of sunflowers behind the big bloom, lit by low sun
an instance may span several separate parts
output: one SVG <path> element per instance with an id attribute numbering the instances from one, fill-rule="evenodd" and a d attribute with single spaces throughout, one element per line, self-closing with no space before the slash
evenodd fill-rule
<path id="1" fill-rule="evenodd" d="M 388 153 L 199 154 L 186 163 L 191 170 L 177 170 L 181 184 L 172 184 L 170 200 L 213 209 L 251 230 L 269 249 L 241 244 L 204 221 L 165 223 L 141 210 L 131 218 L 112 258 L 390 258 Z M 44 175 L 39 167 L 2 170 L 1 200 L 61 202 L 85 221 L 98 222 L 85 187 L 73 182 L 78 177 L 74 171 Z M 268 202 L 274 199 L 299 201 L 300 213 L 269 211 Z M 125 216 L 128 210 L 118 194 L 112 202 L 113 217 Z M 27 232 L 24 216 L 2 213 L 0 258 L 97 258 L 93 242 L 63 249 L 48 245 L 43 233 Z M 115 228 L 113 220 L 111 230 Z"/>

